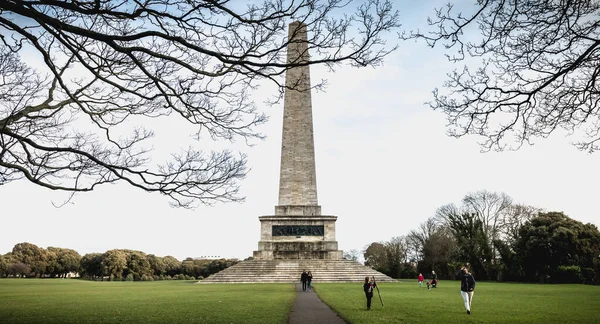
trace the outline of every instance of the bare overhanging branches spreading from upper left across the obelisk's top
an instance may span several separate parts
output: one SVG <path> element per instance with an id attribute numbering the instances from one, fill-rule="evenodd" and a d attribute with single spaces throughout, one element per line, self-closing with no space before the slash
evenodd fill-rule
<path id="1" fill-rule="evenodd" d="M 175 206 L 241 200 L 246 157 L 190 148 L 151 163 L 150 118 L 195 138 L 261 138 L 250 92 L 283 90 L 294 66 L 373 66 L 395 48 L 389 0 L 1 1 L 0 184 L 71 193 L 125 182 Z M 286 60 L 287 26 L 306 25 L 309 61 Z M 36 60 L 39 61 L 36 65 Z M 319 85 L 316 85 L 319 86 Z"/>

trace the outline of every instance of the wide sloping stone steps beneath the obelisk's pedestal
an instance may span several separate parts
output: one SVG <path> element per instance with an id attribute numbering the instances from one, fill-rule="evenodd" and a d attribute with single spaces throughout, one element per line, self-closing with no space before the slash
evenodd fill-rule
<path id="1" fill-rule="evenodd" d="M 247 260 L 215 273 L 199 283 L 295 283 L 302 270 L 311 271 L 313 282 L 395 282 L 378 271 L 349 260 Z"/>

